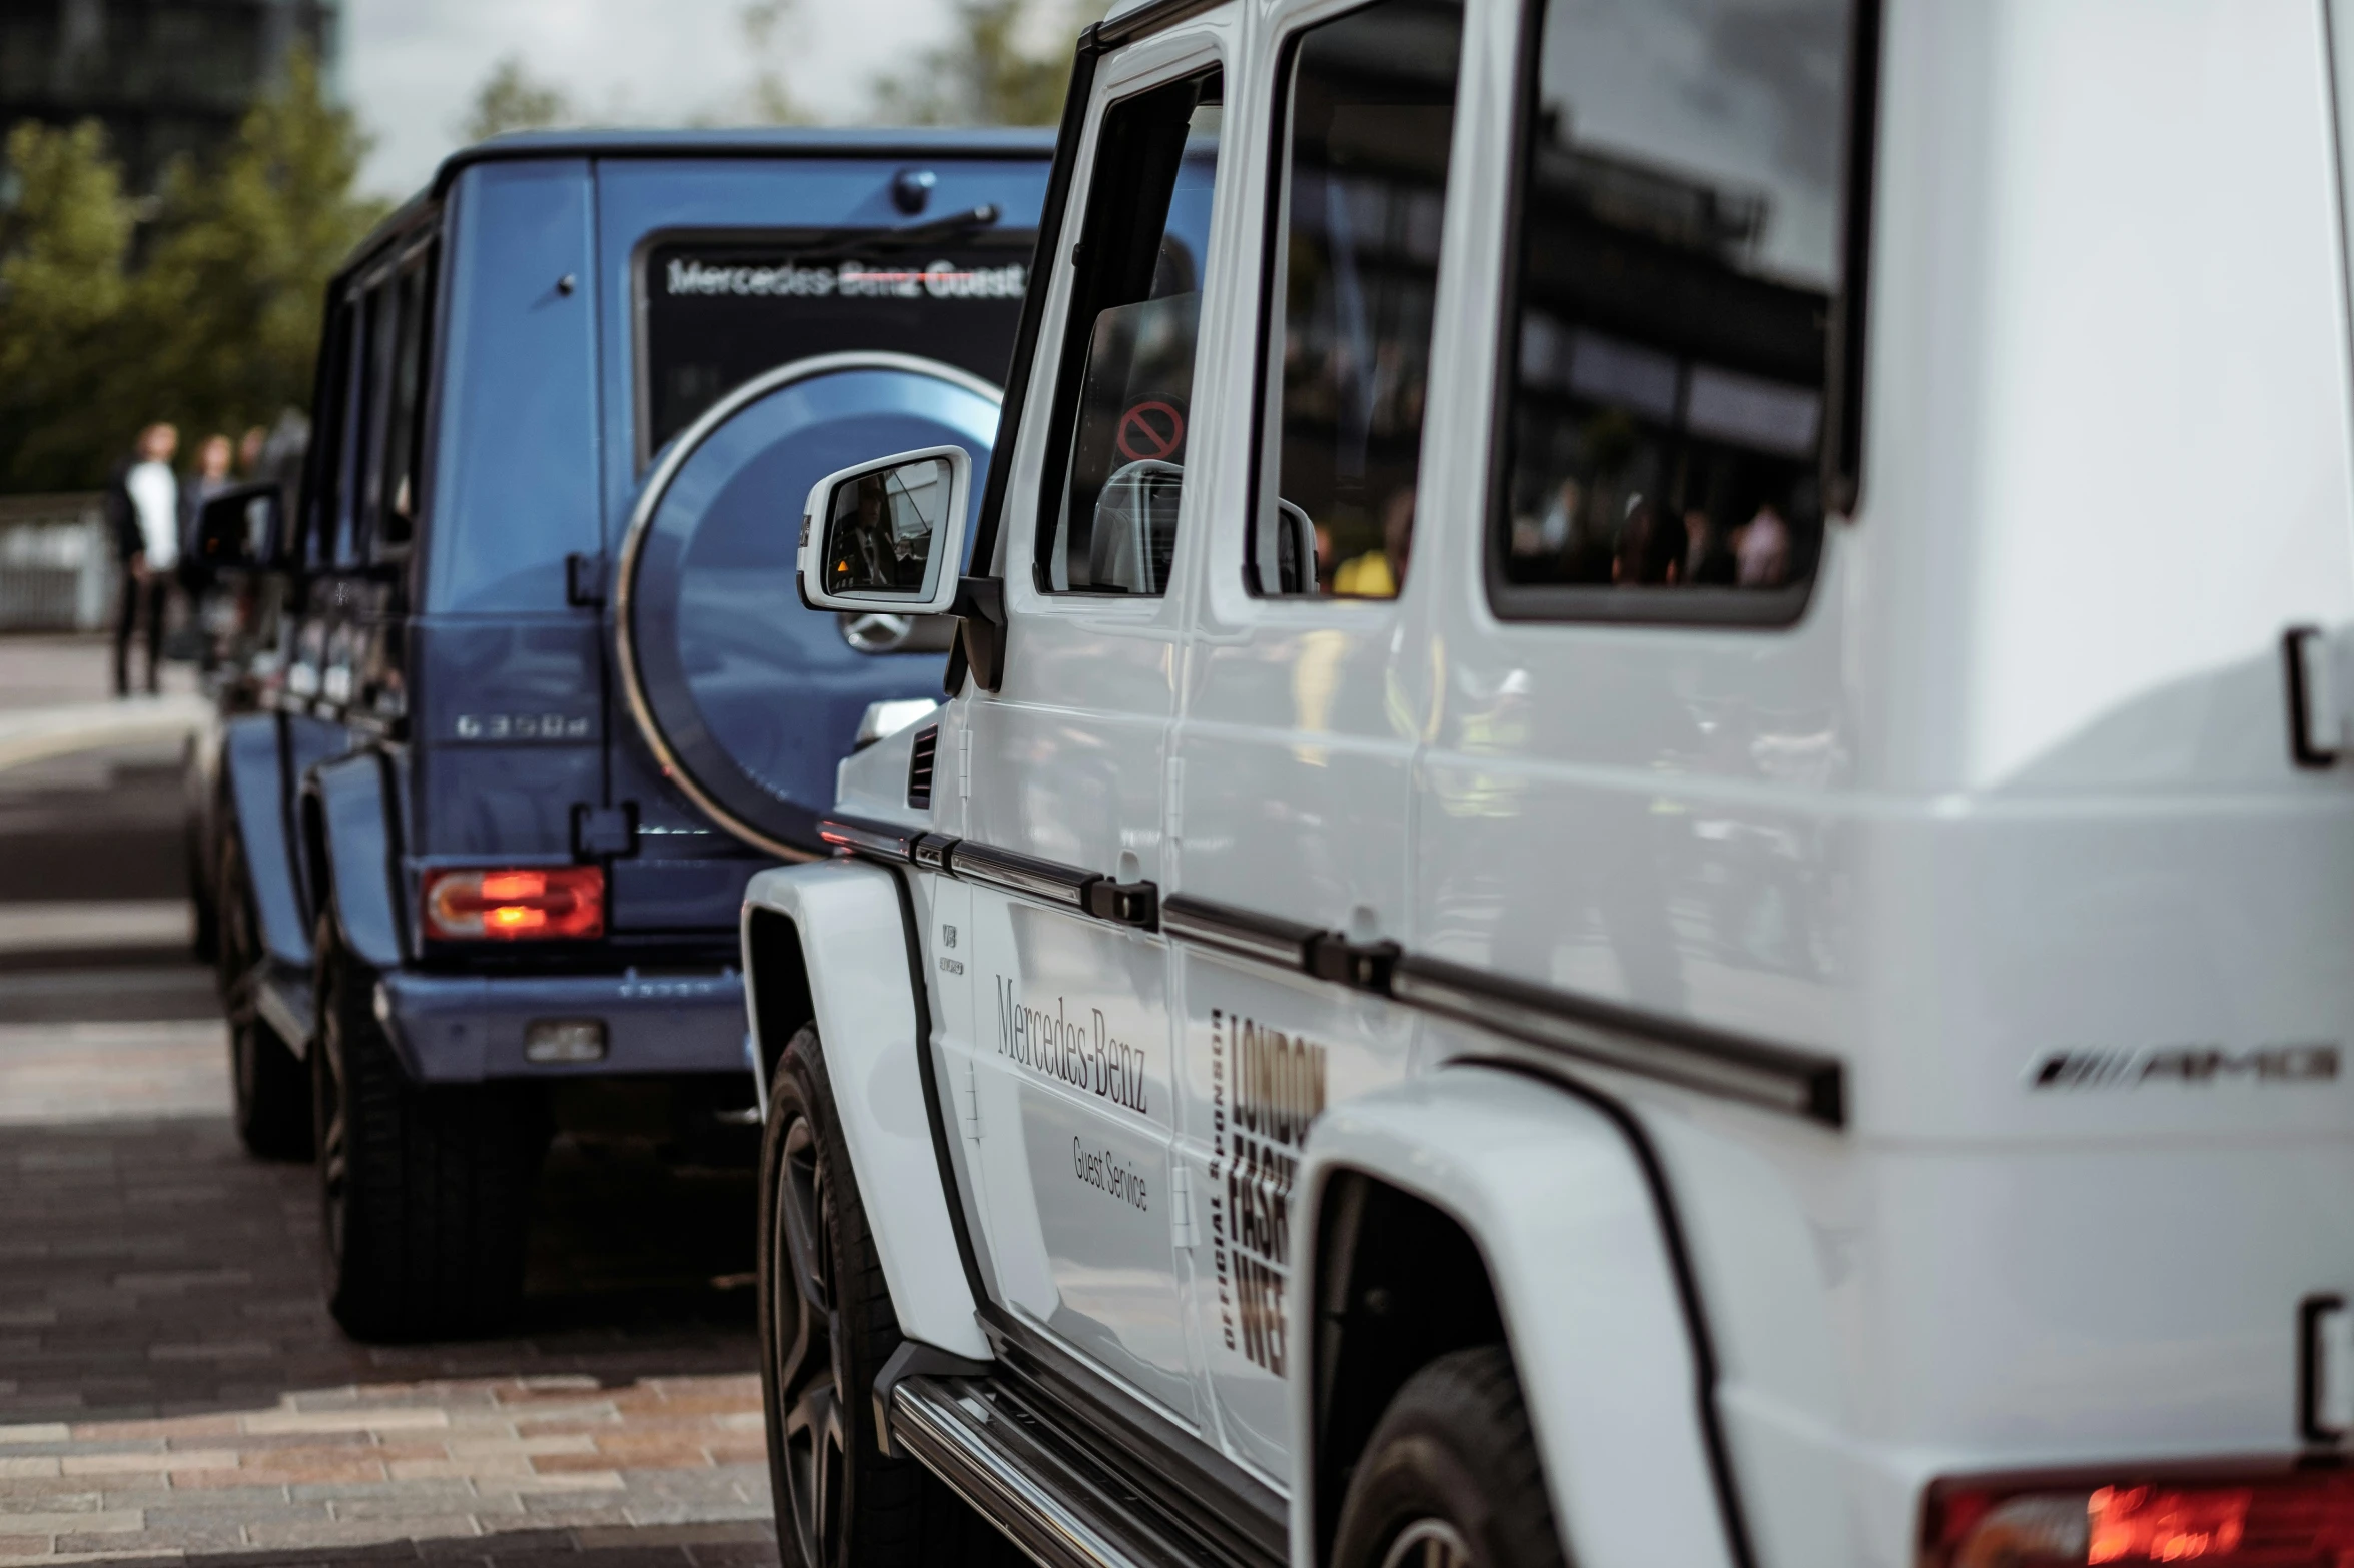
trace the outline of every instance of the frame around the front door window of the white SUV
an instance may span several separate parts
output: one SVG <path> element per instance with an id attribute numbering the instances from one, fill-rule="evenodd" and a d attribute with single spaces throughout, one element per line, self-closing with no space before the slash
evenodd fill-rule
<path id="1" fill-rule="evenodd" d="M 1144 42 L 1144 40 L 1139 40 L 1139 42 Z M 1059 303 L 1059 322 L 1057 322 L 1055 343 L 1052 343 L 1052 348 L 1048 348 L 1045 343 L 1040 343 L 1040 350 L 1038 350 L 1043 355 L 1045 353 L 1052 355 L 1052 360 L 1048 360 L 1048 364 L 1052 367 L 1052 376 L 1055 376 L 1055 381 L 1052 381 L 1052 395 L 1048 400 L 1048 416 L 1045 416 L 1043 430 L 1038 435 L 1038 440 L 1043 442 L 1043 449 L 1038 454 L 1040 456 L 1040 463 L 1038 463 L 1038 496 L 1036 496 L 1036 505 L 1031 508 L 1029 590 L 1033 595 L 1038 595 L 1038 604 L 1085 604 L 1085 607 L 1095 607 L 1095 609 L 1104 609 L 1104 607 L 1111 607 L 1111 604 L 1132 604 L 1132 607 L 1139 607 L 1139 614 L 1151 614 L 1151 611 L 1156 611 L 1163 604 L 1179 602 L 1179 597 L 1184 592 L 1184 588 L 1182 588 L 1182 562 L 1184 562 L 1184 555 L 1186 555 L 1186 534 L 1189 534 L 1186 517 L 1193 515 L 1193 512 L 1198 512 L 1198 508 L 1201 508 L 1198 501 L 1193 501 L 1191 508 L 1186 508 L 1186 503 L 1179 501 L 1177 543 L 1175 543 L 1175 550 L 1170 555 L 1170 581 L 1163 583 L 1161 592 L 1146 595 L 1146 592 L 1111 592 L 1111 590 L 1102 590 L 1102 588 L 1055 588 L 1052 585 L 1052 574 L 1050 574 L 1050 562 L 1048 562 L 1048 550 L 1052 550 L 1052 545 L 1055 545 L 1055 534 L 1057 534 L 1055 524 L 1057 524 L 1057 517 L 1062 512 L 1062 505 L 1064 505 L 1064 498 L 1066 498 L 1064 491 L 1066 491 L 1069 480 L 1071 480 L 1071 449 L 1073 449 L 1073 444 L 1078 440 L 1078 402 L 1080 402 L 1080 393 L 1083 393 L 1085 381 L 1088 381 L 1088 346 L 1095 339 L 1095 320 L 1088 320 L 1085 329 L 1080 329 L 1078 313 L 1080 313 L 1083 306 L 1092 306 L 1095 303 L 1095 287 L 1092 287 L 1090 277 L 1085 275 L 1085 266 L 1088 266 L 1085 249 L 1088 249 L 1088 237 L 1090 237 L 1092 219 L 1095 219 L 1097 179 L 1104 172 L 1104 148 L 1106 148 L 1104 127 L 1111 122 L 1111 118 L 1125 103 L 1132 103 L 1132 101 L 1144 99 L 1144 96 L 1156 94 L 1156 92 L 1168 92 L 1168 89 L 1179 87 L 1184 82 L 1198 82 L 1201 78 L 1217 75 L 1219 78 L 1219 85 L 1217 85 L 1219 99 L 1217 101 L 1219 101 L 1219 108 L 1222 108 L 1222 129 L 1219 129 L 1219 143 L 1217 143 L 1217 165 L 1215 165 L 1215 169 L 1210 174 L 1210 244 L 1205 247 L 1205 254 L 1203 254 L 1203 275 L 1198 280 L 1198 284 L 1201 284 L 1198 287 L 1198 292 L 1201 292 L 1201 320 L 1208 320 L 1208 315 L 1210 315 L 1210 256 L 1215 256 L 1217 240 L 1219 240 L 1219 233 L 1217 233 L 1217 226 L 1219 226 L 1219 202 L 1222 202 L 1224 188 L 1226 188 L 1229 146 L 1233 143 L 1231 113 L 1233 113 L 1233 106 L 1236 106 L 1238 80 L 1236 80 L 1236 73 L 1233 73 L 1233 66 L 1224 56 L 1224 49 L 1219 49 L 1215 45 L 1203 47 L 1203 42 L 1205 40 L 1186 38 L 1184 40 L 1186 47 L 1175 59 L 1142 63 L 1142 68 L 1135 71 L 1132 75 L 1128 75 L 1125 80 L 1111 82 L 1104 89 L 1104 96 L 1097 103 L 1092 103 L 1090 113 L 1088 113 L 1088 120 L 1090 120 L 1090 125 L 1088 125 L 1090 141 L 1088 141 L 1088 160 L 1085 160 L 1085 165 L 1088 165 L 1088 181 L 1085 181 L 1085 190 L 1076 190 L 1073 193 L 1073 207 L 1078 212 L 1078 233 L 1071 237 L 1069 249 L 1064 252 L 1066 268 L 1062 268 L 1064 275 L 1069 277 L 1069 282 L 1062 287 L 1062 299 L 1057 301 Z M 1196 99 L 1196 108 L 1198 106 L 1201 106 L 1201 99 Z M 1073 181 L 1073 186 L 1078 181 Z M 1165 221 L 1168 219 L 1163 216 L 1163 223 Z M 1036 275 L 1031 277 L 1031 287 L 1033 289 L 1040 287 L 1040 280 Z M 1193 336 L 1193 364 L 1191 364 L 1191 374 L 1196 374 L 1196 376 L 1201 374 L 1203 341 L 1205 341 L 1205 334 L 1201 329 L 1196 329 L 1196 336 Z M 1191 397 L 1189 397 L 1189 402 L 1191 402 Z M 1193 496 L 1198 491 L 1201 491 L 1198 484 L 1189 484 L 1184 489 L 1184 494 L 1189 494 L 1189 496 Z M 979 569 L 979 562 L 975 562 L 975 569 Z"/>

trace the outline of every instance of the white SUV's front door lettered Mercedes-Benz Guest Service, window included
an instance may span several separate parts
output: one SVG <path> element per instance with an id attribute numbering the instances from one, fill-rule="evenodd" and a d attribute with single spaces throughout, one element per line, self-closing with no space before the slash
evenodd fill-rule
<path id="1" fill-rule="evenodd" d="M 970 1011 L 944 1046 L 970 1084 L 984 1267 L 1017 1319 L 1186 1427 L 1168 950 L 1149 912 L 1090 912 L 1085 882 L 1163 875 L 1226 16 L 1097 66 L 1076 244 L 1038 280 L 1052 294 L 1031 407 L 1050 418 L 1012 454 L 1003 686 L 963 705 L 939 757 L 942 788 L 970 790 L 939 919 L 963 926 Z"/>

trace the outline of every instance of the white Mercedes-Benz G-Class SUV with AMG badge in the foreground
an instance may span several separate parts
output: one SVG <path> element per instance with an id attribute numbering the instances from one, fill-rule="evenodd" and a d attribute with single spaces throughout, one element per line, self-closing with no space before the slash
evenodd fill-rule
<path id="1" fill-rule="evenodd" d="M 746 903 L 789 1563 L 2354 1561 L 2333 12 L 1083 35 L 803 522 L 960 656 Z"/>

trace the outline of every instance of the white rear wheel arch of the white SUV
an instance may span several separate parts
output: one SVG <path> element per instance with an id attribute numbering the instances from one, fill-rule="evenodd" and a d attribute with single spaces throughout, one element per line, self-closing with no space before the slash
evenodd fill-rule
<path id="1" fill-rule="evenodd" d="M 1316 1121 L 1290 1326 L 1299 1568 L 1330 1561 L 1346 1479 L 1396 1387 L 1483 1328 L 1511 1354 L 1568 1561 L 1749 1563 L 1707 1340 L 1636 1138 L 1594 1100 L 1488 1065 Z M 1450 1272 L 1474 1279 L 1450 1291 Z M 1401 1281 L 1408 1300 L 1368 1312 L 1368 1288 Z M 1417 1302 L 1419 1319 L 1398 1309 Z"/>

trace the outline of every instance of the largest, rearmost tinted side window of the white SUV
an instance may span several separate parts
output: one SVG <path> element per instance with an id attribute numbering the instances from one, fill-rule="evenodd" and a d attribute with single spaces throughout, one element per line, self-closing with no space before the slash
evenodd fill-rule
<path id="1" fill-rule="evenodd" d="M 1822 543 L 1853 0 L 1547 0 L 1497 609 L 1789 618 Z"/>

